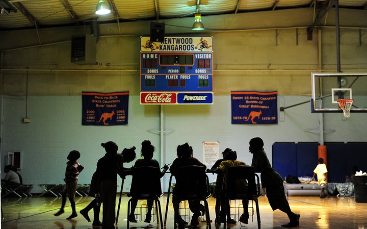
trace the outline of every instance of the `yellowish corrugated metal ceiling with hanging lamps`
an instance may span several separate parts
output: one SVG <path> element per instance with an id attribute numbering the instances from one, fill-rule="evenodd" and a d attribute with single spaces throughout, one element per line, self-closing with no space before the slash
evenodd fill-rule
<path id="1" fill-rule="evenodd" d="M 318 10 L 333 1 L 335 0 L 200 0 L 199 9 L 203 16 L 305 7 Z M 104 2 L 110 5 L 113 12 L 97 17 L 94 11 L 98 0 L 0 0 L 0 6 L 4 8 L 0 15 L 0 30 L 84 24 L 95 19 L 103 23 L 192 17 L 197 8 L 196 0 Z M 9 4 L 17 12 L 9 10 Z M 367 0 L 340 0 L 339 7 L 366 11 Z"/>

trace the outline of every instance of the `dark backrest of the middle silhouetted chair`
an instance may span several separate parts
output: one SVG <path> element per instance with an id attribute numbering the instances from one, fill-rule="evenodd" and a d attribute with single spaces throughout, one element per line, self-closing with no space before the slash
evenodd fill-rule
<path id="1" fill-rule="evenodd" d="M 198 165 L 179 167 L 175 175 L 174 195 L 207 198 L 211 195 L 205 167 Z"/>

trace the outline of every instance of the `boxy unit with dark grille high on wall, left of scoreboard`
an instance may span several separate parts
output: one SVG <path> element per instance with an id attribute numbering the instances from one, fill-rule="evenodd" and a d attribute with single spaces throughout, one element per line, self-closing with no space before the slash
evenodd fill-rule
<path id="1" fill-rule="evenodd" d="M 79 65 L 95 65 L 97 38 L 93 35 L 71 38 L 71 62 Z"/>

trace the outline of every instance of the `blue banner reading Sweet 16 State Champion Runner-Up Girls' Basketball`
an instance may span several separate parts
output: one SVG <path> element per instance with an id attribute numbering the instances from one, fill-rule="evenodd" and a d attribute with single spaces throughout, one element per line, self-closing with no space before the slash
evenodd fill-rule
<path id="1" fill-rule="evenodd" d="M 278 92 L 231 92 L 232 124 L 277 124 Z"/>

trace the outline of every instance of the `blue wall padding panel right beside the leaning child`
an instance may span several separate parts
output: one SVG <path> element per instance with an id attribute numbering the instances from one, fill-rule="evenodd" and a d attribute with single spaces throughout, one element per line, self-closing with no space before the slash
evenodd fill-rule
<path id="1" fill-rule="evenodd" d="M 273 144 L 273 168 L 283 180 L 288 175 L 297 176 L 297 149 L 295 142 Z"/>

